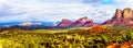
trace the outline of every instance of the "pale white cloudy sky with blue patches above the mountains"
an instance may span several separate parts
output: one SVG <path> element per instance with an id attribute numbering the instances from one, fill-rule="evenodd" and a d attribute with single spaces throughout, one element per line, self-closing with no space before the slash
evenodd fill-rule
<path id="1" fill-rule="evenodd" d="M 133 0 L 0 0 L 0 23 L 57 22 L 88 16 L 104 22 L 115 9 L 133 9 Z"/>

